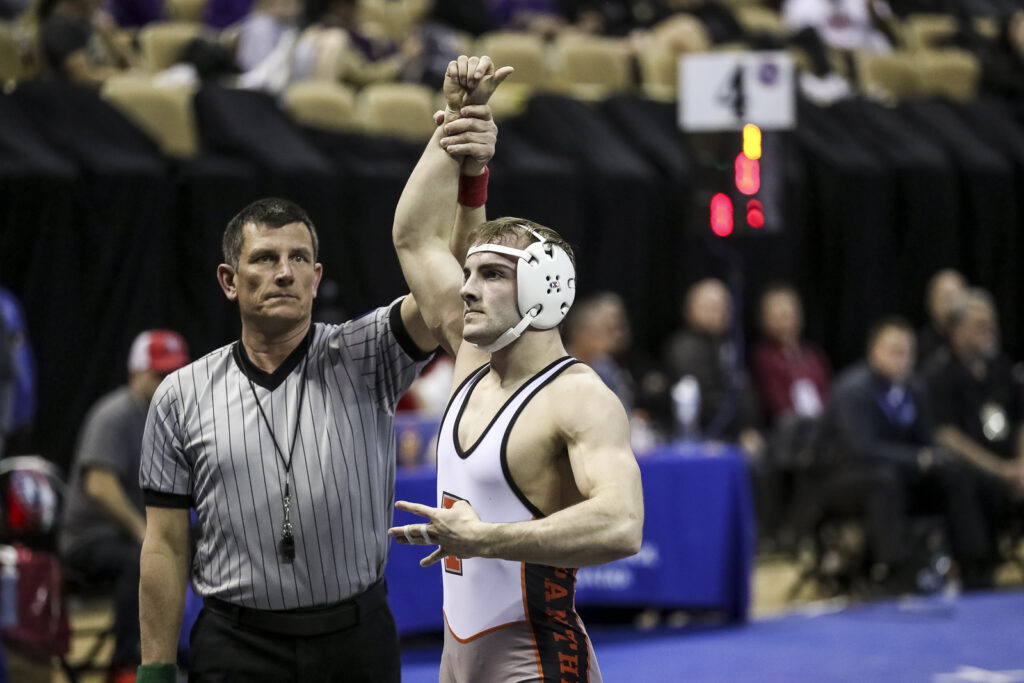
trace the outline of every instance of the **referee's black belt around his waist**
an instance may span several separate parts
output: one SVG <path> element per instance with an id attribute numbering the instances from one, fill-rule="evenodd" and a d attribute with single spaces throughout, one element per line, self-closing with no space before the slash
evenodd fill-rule
<path id="1" fill-rule="evenodd" d="M 326 607 L 298 609 L 254 609 L 217 598 L 206 598 L 204 605 L 238 626 L 282 636 L 322 636 L 344 631 L 359 623 L 360 614 L 387 607 L 387 586 L 381 579 L 362 593 Z"/>

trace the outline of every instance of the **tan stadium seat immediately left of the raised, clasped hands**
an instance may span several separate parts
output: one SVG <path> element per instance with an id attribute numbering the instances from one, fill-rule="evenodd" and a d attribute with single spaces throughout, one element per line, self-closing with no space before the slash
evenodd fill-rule
<path id="1" fill-rule="evenodd" d="M 421 141 L 434 131 L 435 93 L 426 86 L 375 83 L 360 90 L 355 101 L 368 133 Z"/>

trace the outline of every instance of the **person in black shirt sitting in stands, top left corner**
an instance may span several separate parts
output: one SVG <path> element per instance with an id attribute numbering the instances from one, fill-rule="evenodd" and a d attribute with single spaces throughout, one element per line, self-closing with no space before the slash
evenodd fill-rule
<path id="1" fill-rule="evenodd" d="M 114 37 L 114 19 L 96 0 L 42 0 L 38 11 L 43 69 L 49 76 L 99 87 L 135 66 L 135 56 Z"/>

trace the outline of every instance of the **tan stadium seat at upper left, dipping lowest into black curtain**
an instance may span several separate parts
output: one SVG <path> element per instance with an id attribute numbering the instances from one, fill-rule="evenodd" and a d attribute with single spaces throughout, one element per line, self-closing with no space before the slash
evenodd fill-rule
<path id="1" fill-rule="evenodd" d="M 100 94 L 153 138 L 165 155 L 189 159 L 199 153 L 190 87 L 157 86 L 145 78 L 119 76 L 109 79 Z"/>

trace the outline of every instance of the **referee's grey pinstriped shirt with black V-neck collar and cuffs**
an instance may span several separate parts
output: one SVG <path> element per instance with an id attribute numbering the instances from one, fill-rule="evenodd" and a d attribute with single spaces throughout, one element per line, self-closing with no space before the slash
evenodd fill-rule
<path id="1" fill-rule="evenodd" d="M 313 325 L 272 374 L 253 366 L 236 342 L 160 385 L 139 479 L 146 505 L 196 508 L 198 593 L 292 609 L 339 602 L 383 575 L 394 501 L 394 408 L 425 359 L 399 308 L 395 302 L 344 325 Z M 285 469 L 243 365 L 286 457 L 299 413 L 293 563 L 278 551 Z"/>

